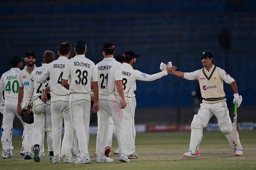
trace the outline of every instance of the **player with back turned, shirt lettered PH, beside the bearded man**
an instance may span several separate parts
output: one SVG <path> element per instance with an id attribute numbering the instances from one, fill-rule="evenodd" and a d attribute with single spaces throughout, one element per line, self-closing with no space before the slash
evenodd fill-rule
<path id="1" fill-rule="evenodd" d="M 47 103 L 41 100 L 42 93 L 48 87 L 48 82 L 37 83 L 38 77 L 44 72 L 45 67 L 54 61 L 55 54 L 50 50 L 44 52 L 44 64 L 37 67 L 31 74 L 28 88 L 29 108 L 33 107 L 34 111 L 34 131 L 33 131 L 33 151 L 34 161 L 40 162 L 39 150 L 43 146 L 44 132 L 47 134 L 47 145 L 49 151 L 49 161 L 53 161 L 53 137 L 52 137 L 52 121 L 51 121 L 51 103 L 50 93 L 48 93 Z M 49 80 L 50 82 L 50 80 Z M 34 96 L 33 96 L 34 94 Z"/>

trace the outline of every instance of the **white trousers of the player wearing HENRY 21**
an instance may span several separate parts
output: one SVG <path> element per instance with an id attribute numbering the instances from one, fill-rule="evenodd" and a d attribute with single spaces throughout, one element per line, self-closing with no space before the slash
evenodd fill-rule
<path id="1" fill-rule="evenodd" d="M 123 109 L 121 109 L 121 98 L 119 95 L 99 95 L 100 112 L 98 115 L 97 132 L 97 156 L 104 156 L 104 147 L 106 145 L 109 117 L 111 116 L 116 128 L 117 142 L 120 153 L 128 154 L 128 144 L 125 134 Z"/>

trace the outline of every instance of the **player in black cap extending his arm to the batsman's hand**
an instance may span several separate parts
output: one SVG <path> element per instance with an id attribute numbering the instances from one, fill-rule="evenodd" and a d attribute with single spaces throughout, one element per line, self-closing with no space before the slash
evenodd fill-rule
<path id="1" fill-rule="evenodd" d="M 128 143 L 129 159 L 139 158 L 139 156 L 135 152 L 136 131 L 134 127 L 134 114 L 136 108 L 134 91 L 136 90 L 136 80 L 154 81 L 176 70 L 176 67 L 166 67 L 166 69 L 162 72 L 153 75 L 142 73 L 139 70 L 134 70 L 132 66 L 135 64 L 136 58 L 139 56 L 139 54 L 136 54 L 134 51 L 129 50 L 124 53 L 123 58 L 125 60 L 125 63 L 122 64 L 122 83 L 124 87 L 125 100 L 127 102 L 127 106 L 124 109 L 124 124 L 125 134 Z"/>

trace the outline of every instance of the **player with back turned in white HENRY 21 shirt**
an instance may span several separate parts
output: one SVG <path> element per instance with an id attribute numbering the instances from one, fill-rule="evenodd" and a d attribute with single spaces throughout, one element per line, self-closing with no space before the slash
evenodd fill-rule
<path id="1" fill-rule="evenodd" d="M 117 133 L 117 141 L 120 149 L 119 161 L 130 162 L 128 160 L 128 144 L 125 134 L 123 109 L 126 106 L 123 86 L 122 86 L 122 65 L 113 58 L 115 46 L 110 43 L 104 44 L 101 49 L 104 59 L 96 65 L 98 70 L 99 104 L 97 132 L 97 160 L 96 162 L 112 162 L 104 155 L 106 145 L 109 118 L 112 117 Z"/>

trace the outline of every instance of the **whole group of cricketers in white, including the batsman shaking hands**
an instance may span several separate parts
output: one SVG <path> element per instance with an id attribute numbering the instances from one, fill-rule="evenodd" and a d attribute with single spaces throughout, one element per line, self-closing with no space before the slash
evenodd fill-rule
<path id="1" fill-rule="evenodd" d="M 118 142 L 119 161 L 130 162 L 137 159 L 135 151 L 134 114 L 136 108 L 136 80 L 153 81 L 171 73 L 184 79 L 197 79 L 202 86 L 216 86 L 212 91 L 202 90 L 203 103 L 191 123 L 189 152 L 186 157 L 199 157 L 199 146 L 205 127 L 215 115 L 221 131 L 232 145 L 231 119 L 228 115 L 223 81 L 231 84 L 234 90 L 234 103 L 242 102 L 234 79 L 225 71 L 212 65 L 213 54 L 203 52 L 204 68 L 191 73 L 175 71 L 177 67 L 160 64 L 159 73 L 149 75 L 133 69 L 140 55 L 129 50 L 122 56 L 115 54 L 115 46 L 104 44 L 103 57 L 97 64 L 85 57 L 87 46 L 84 41 L 72 46 L 65 41 L 58 47 L 59 58 L 50 50 L 44 52 L 43 64 L 36 67 L 36 55 L 27 52 L 24 58 L 14 55 L 10 58 L 11 70 L 3 73 L 0 80 L 0 111 L 3 113 L 2 156 L 12 158 L 12 124 L 18 116 L 24 130 L 20 155 L 24 159 L 40 162 L 44 156 L 44 135 L 47 134 L 48 157 L 52 163 L 87 164 L 91 162 L 89 143 L 89 124 L 92 112 L 97 112 L 97 147 L 94 155 L 96 162 L 112 162 L 109 158 L 112 137 Z M 71 59 L 69 59 L 71 55 Z M 22 61 L 26 62 L 23 70 Z M 201 78 L 203 81 L 200 81 Z M 208 80 L 208 82 L 206 82 Z M 207 89 L 207 88 L 206 88 Z M 4 91 L 4 99 L 2 92 Z M 212 109 L 212 106 L 218 109 Z M 31 117 L 31 115 L 33 116 Z M 20 116 L 21 115 L 21 116 Z M 26 116 L 26 117 L 25 117 Z M 62 124 L 64 120 L 64 137 Z M 243 155 L 237 133 L 235 155 Z"/>

